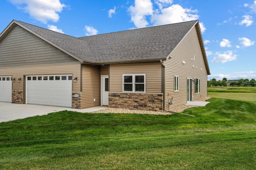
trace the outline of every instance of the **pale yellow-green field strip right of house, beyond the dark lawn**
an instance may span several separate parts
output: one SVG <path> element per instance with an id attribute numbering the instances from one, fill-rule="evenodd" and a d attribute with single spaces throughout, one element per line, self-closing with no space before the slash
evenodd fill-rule
<path id="1" fill-rule="evenodd" d="M 223 98 L 256 102 L 256 93 L 207 92 L 207 96 L 210 98 Z"/>

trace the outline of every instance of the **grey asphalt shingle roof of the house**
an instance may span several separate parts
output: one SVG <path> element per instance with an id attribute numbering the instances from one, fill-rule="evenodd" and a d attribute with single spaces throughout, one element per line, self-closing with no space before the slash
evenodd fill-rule
<path id="1" fill-rule="evenodd" d="M 197 20 L 79 38 L 16 22 L 82 61 L 104 63 L 165 59 Z"/>

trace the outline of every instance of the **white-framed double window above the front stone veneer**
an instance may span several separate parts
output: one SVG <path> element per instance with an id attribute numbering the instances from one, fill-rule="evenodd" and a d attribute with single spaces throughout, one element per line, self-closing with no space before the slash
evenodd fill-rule
<path id="1" fill-rule="evenodd" d="M 145 81 L 145 74 L 123 75 L 123 92 L 145 92 Z"/>

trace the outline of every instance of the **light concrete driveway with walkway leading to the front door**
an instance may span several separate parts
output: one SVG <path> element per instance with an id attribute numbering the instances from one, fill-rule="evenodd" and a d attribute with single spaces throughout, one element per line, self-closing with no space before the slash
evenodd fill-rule
<path id="1" fill-rule="evenodd" d="M 87 109 L 72 109 L 69 107 L 57 107 L 57 106 L 44 106 L 35 104 L 12 104 L 7 102 L 0 102 L 0 122 L 12 121 L 16 119 L 23 119 L 26 117 L 32 117 L 36 115 L 47 115 L 57 111 L 70 110 L 82 113 L 90 111 L 97 111 L 106 109 L 107 106 L 97 106 Z"/>

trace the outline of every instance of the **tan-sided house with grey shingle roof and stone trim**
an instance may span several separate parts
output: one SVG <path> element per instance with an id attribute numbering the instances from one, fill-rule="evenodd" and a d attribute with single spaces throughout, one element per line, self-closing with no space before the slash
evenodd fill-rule
<path id="1" fill-rule="evenodd" d="M 13 20 L 0 34 L 0 102 L 162 111 L 207 96 L 198 20 L 72 37 Z"/>

